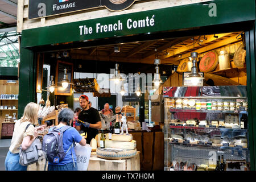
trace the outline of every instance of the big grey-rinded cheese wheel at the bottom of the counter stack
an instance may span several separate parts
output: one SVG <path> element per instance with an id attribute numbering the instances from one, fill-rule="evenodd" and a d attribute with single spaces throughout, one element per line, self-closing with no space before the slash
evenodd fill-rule
<path id="1" fill-rule="evenodd" d="M 137 150 L 123 150 L 120 152 L 103 151 L 100 147 L 97 148 L 96 154 L 98 158 L 103 159 L 128 159 L 136 155 Z"/>

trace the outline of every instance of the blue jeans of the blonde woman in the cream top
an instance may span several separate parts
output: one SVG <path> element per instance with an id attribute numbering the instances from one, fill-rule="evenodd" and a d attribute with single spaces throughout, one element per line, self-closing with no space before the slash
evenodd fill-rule
<path id="1" fill-rule="evenodd" d="M 27 166 L 21 166 L 19 164 L 19 153 L 13 154 L 8 151 L 5 159 L 5 170 L 6 171 L 27 171 Z"/>

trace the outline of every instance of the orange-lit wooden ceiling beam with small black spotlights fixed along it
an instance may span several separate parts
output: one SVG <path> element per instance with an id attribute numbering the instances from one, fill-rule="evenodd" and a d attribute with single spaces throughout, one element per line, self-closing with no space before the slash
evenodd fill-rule
<path id="1" fill-rule="evenodd" d="M 218 39 L 220 38 L 223 38 L 224 36 L 228 36 L 232 33 L 228 33 L 228 34 L 216 34 L 218 36 Z M 195 39 L 198 39 L 199 37 L 196 37 Z M 201 43 L 201 46 L 204 46 L 204 44 L 207 44 L 207 43 L 210 43 L 214 40 L 216 40 L 216 38 L 213 37 L 213 35 L 205 35 L 205 38 L 207 38 L 207 40 L 204 40 L 202 43 Z M 203 39 L 203 38 L 201 38 Z M 187 45 L 184 45 L 178 49 L 175 49 L 174 51 L 170 51 L 169 55 L 162 55 L 159 57 L 159 59 L 163 60 L 163 59 L 168 59 L 172 56 L 175 56 L 175 55 L 179 55 L 181 54 L 182 52 L 185 52 L 185 51 L 189 51 L 193 48 L 197 48 L 199 47 L 200 45 L 199 44 L 196 44 L 195 43 L 195 46 L 192 44 L 191 46 L 187 46 Z"/>

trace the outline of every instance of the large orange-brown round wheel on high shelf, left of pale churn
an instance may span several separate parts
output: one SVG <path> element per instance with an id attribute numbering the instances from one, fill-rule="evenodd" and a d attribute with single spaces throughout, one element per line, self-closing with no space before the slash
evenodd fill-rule
<path id="1" fill-rule="evenodd" d="M 199 69 L 201 72 L 211 72 L 218 65 L 218 53 L 216 51 L 210 51 L 201 59 Z"/>

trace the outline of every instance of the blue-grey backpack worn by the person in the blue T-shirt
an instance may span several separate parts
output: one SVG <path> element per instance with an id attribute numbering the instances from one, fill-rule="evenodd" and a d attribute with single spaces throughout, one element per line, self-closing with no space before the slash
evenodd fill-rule
<path id="1" fill-rule="evenodd" d="M 59 163 L 61 160 L 65 158 L 65 155 L 68 153 L 69 150 L 73 147 L 74 143 L 68 148 L 67 152 L 63 150 L 63 133 L 64 131 L 71 128 L 71 126 L 63 126 L 57 128 L 56 126 L 52 128 L 46 135 L 43 137 L 42 142 L 42 150 L 46 154 L 46 159 L 51 163 Z M 72 159 L 73 153 L 71 150 Z M 73 163 L 75 166 L 75 162 L 73 159 Z"/>

